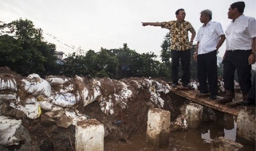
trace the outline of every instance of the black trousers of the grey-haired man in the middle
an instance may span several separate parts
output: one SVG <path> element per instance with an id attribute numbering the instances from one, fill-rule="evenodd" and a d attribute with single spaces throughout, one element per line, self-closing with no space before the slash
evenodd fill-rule
<path id="1" fill-rule="evenodd" d="M 217 95 L 217 50 L 197 56 L 197 78 L 200 93 Z"/>

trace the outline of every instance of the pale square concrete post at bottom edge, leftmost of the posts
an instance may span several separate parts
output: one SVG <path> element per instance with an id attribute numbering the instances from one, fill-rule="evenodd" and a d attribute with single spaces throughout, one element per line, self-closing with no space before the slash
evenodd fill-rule
<path id="1" fill-rule="evenodd" d="M 104 150 L 104 125 L 96 119 L 78 121 L 75 127 L 75 150 Z"/>

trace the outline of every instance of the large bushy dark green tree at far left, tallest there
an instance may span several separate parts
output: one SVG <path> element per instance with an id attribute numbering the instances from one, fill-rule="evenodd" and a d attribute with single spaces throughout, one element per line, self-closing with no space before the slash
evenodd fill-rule
<path id="1" fill-rule="evenodd" d="M 57 67 L 54 56 L 55 45 L 42 42 L 41 30 L 37 30 L 32 21 L 19 19 L 0 26 L 1 66 L 28 75 L 37 73 L 46 75 Z"/>

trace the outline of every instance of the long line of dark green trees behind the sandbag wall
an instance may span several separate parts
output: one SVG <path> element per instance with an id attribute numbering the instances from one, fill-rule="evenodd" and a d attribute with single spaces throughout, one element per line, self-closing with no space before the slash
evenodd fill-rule
<path id="1" fill-rule="evenodd" d="M 161 44 L 161 61 L 155 60 L 155 53 L 139 54 L 128 47 L 81 51 L 67 55 L 65 63 L 56 63 L 55 44 L 43 41 L 41 28 L 36 29 L 30 20 L 15 20 L 8 24 L 0 21 L 0 65 L 8 66 L 21 75 L 37 73 L 73 77 L 152 77 L 171 80 L 170 34 Z M 191 78 L 197 79 L 197 62 L 191 51 Z M 220 69 L 219 69 L 220 70 Z M 220 70 L 221 71 L 221 70 Z M 181 74 L 181 72 L 179 72 Z"/>

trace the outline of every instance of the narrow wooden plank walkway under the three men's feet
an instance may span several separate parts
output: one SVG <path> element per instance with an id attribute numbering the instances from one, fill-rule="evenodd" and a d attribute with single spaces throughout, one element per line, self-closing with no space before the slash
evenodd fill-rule
<path id="1" fill-rule="evenodd" d="M 197 90 L 172 89 L 171 92 L 173 92 L 174 94 L 179 95 L 181 97 L 187 98 L 187 100 L 190 100 L 195 103 L 201 104 L 203 106 L 213 108 L 217 111 L 235 115 L 235 116 L 237 116 L 238 113 L 241 111 L 241 109 L 244 108 L 242 106 L 228 107 L 228 106 L 219 104 L 214 100 L 210 100 L 208 98 L 199 98 L 196 96 L 196 94 L 198 92 Z M 253 108 L 255 109 L 255 107 L 253 107 Z"/>

